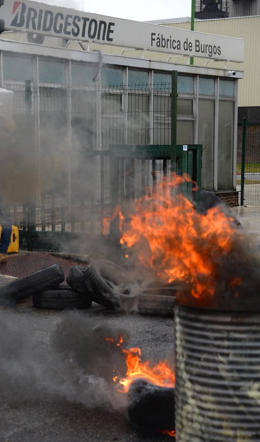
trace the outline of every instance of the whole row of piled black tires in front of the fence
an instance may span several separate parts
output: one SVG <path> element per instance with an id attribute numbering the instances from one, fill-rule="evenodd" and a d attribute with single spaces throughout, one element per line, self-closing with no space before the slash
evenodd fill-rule
<path id="1" fill-rule="evenodd" d="M 0 284 L 0 305 L 14 306 L 32 296 L 33 305 L 44 309 L 88 308 L 92 302 L 117 311 L 130 311 L 136 304 L 143 315 L 172 316 L 173 288 L 140 291 L 129 272 L 104 259 L 87 267 L 74 266 L 66 282 L 58 264 L 11 282 Z"/>

